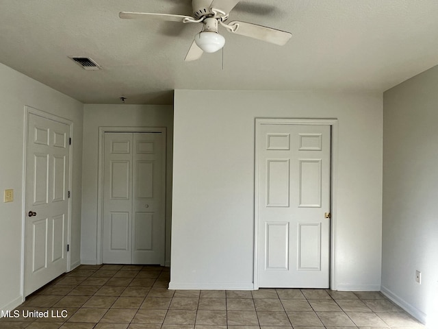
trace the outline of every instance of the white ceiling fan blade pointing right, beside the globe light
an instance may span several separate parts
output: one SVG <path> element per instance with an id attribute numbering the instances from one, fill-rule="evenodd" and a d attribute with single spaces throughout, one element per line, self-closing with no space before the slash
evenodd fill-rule
<path id="1" fill-rule="evenodd" d="M 279 46 L 285 45 L 286 42 L 292 37 L 292 34 L 289 32 L 252 23 L 233 21 L 228 23 L 228 25 L 235 29 L 234 31 L 231 31 L 235 34 L 274 43 L 275 45 Z"/>

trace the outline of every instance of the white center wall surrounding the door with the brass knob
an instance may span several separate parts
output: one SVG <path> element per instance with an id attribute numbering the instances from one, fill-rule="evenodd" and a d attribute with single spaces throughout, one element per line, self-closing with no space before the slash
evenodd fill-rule
<path id="1" fill-rule="evenodd" d="M 382 95 L 175 91 L 172 289 L 253 287 L 256 117 L 339 121 L 335 287 L 380 290 Z"/>

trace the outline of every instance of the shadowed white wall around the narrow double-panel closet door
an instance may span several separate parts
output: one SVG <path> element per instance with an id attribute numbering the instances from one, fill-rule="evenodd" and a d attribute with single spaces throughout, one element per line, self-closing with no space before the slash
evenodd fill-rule
<path id="1" fill-rule="evenodd" d="M 166 262 L 170 261 L 173 107 L 86 104 L 83 114 L 81 263 L 96 264 L 99 127 L 167 127 Z M 100 234 L 100 232 L 99 232 Z"/>

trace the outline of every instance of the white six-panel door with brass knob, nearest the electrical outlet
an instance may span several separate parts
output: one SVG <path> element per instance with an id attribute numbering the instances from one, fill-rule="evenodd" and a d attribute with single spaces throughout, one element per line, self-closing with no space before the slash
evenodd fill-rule
<path id="1" fill-rule="evenodd" d="M 329 288 L 331 127 L 257 125 L 259 287 Z"/>

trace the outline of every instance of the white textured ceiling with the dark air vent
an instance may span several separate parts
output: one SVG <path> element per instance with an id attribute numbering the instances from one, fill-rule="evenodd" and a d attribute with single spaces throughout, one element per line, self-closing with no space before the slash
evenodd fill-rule
<path id="1" fill-rule="evenodd" d="M 289 31 L 287 45 L 220 29 L 223 57 L 195 62 L 183 59 L 201 25 L 118 19 L 190 15 L 190 3 L 0 0 L 0 62 L 84 103 L 149 104 L 172 103 L 174 89 L 383 91 L 438 64 L 437 0 L 242 0 L 230 21 Z"/>

